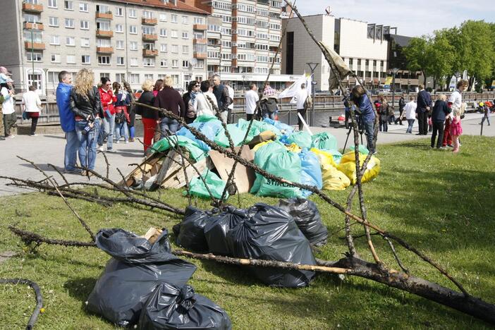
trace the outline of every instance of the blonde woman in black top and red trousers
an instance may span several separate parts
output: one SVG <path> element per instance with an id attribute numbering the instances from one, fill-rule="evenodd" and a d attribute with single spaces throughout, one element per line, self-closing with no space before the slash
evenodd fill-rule
<path id="1" fill-rule="evenodd" d="M 141 88 L 143 92 L 138 99 L 138 102 L 152 106 L 154 104 L 153 82 L 151 80 L 145 80 L 145 82 L 142 83 Z M 149 109 L 147 106 L 138 106 L 136 114 L 141 115 L 142 126 L 145 129 L 145 137 L 143 140 L 146 154 L 147 149 L 152 145 L 155 127 L 157 126 L 157 123 L 159 123 L 158 111 Z"/>

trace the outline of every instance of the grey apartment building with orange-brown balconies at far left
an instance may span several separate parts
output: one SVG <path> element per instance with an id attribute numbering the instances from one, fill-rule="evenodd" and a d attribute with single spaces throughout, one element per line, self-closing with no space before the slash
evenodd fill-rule
<path id="1" fill-rule="evenodd" d="M 207 78 L 207 16 L 178 0 L 4 1 L 0 64 L 41 94 L 81 68 L 135 88 L 170 74 L 185 87 Z"/>

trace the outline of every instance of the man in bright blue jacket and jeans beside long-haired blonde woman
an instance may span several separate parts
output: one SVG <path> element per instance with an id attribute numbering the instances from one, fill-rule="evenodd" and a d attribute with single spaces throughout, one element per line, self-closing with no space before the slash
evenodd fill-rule
<path id="1" fill-rule="evenodd" d="M 76 169 L 78 161 L 79 140 L 75 134 L 75 119 L 71 111 L 72 75 L 67 71 L 59 73 L 59 86 L 56 87 L 56 105 L 59 107 L 60 125 L 66 133 L 66 149 L 63 166 L 66 173 L 81 173 Z"/>

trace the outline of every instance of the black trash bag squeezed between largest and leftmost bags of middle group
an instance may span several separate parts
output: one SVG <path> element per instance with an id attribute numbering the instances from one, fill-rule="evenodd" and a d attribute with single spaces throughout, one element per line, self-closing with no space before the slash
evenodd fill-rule
<path id="1" fill-rule="evenodd" d="M 245 209 L 228 206 L 224 212 L 212 216 L 204 226 L 209 252 L 214 255 L 232 255 L 226 243 L 226 236 L 231 228 L 246 219 Z"/>

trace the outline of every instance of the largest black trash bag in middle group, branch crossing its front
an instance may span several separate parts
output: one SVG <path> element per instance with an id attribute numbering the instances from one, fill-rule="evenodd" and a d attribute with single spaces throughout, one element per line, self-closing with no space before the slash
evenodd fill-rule
<path id="1" fill-rule="evenodd" d="M 279 207 L 255 204 L 247 210 L 247 219 L 227 233 L 233 257 L 276 260 L 316 265 L 310 247 L 292 216 Z M 270 286 L 298 288 L 307 286 L 314 271 L 250 267 L 252 273 Z"/>

